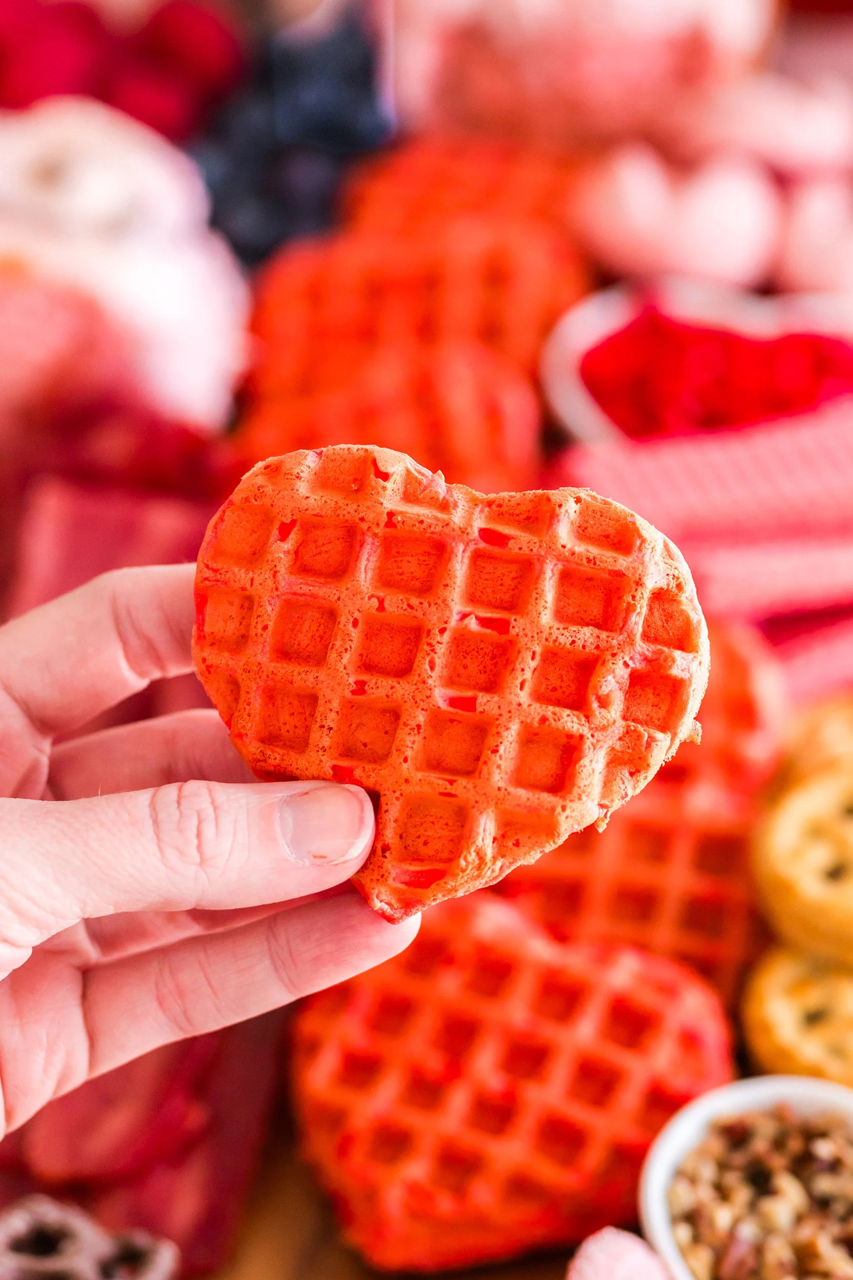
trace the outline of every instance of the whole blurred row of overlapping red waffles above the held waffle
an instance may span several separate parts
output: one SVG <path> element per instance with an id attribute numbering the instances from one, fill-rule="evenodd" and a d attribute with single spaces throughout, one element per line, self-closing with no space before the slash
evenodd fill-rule
<path id="1" fill-rule="evenodd" d="M 570 174 L 480 141 L 367 166 L 352 224 L 261 278 L 244 457 L 377 444 L 481 492 L 532 488 L 540 348 L 587 285 L 555 220 Z"/>

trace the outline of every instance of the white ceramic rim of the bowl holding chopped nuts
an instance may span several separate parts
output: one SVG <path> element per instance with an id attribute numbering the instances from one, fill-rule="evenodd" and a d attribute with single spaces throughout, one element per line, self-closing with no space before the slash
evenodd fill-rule
<path id="1" fill-rule="evenodd" d="M 711 1121 L 744 1111 L 763 1111 L 788 1102 L 801 1115 L 838 1111 L 853 1121 L 853 1089 L 811 1075 L 757 1075 L 735 1080 L 682 1107 L 655 1138 L 639 1179 L 639 1221 L 673 1280 L 693 1280 L 673 1239 L 666 1193 L 689 1151 L 705 1138 Z"/>

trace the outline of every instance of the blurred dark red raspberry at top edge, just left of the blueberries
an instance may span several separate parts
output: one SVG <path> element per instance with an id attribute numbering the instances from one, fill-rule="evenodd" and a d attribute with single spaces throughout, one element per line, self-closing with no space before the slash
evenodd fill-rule
<path id="1" fill-rule="evenodd" d="M 192 81 L 205 95 L 229 90 L 246 65 L 233 24 L 192 0 L 166 0 L 141 32 L 139 45 L 152 61 Z"/>

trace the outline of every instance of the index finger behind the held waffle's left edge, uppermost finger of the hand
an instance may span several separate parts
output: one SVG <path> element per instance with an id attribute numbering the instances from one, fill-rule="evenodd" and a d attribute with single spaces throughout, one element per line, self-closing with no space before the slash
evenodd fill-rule
<path id="1" fill-rule="evenodd" d="M 0 627 L 4 701 L 41 735 L 79 728 L 192 669 L 194 564 L 120 568 Z"/>

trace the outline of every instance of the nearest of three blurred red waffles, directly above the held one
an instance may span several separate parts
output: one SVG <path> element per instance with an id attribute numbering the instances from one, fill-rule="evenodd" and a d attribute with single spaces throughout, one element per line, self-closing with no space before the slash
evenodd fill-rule
<path id="1" fill-rule="evenodd" d="M 335 372 L 329 376 L 334 381 Z M 292 449 L 379 444 L 451 484 L 501 493 L 535 483 L 538 435 L 536 392 L 512 361 L 481 343 L 444 342 L 382 347 L 339 392 L 263 399 L 235 442 L 251 462 Z"/>

